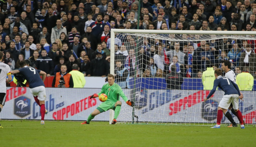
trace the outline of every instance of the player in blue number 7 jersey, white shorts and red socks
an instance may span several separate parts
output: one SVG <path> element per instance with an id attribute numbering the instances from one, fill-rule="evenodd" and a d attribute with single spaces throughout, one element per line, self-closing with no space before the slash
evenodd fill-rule
<path id="1" fill-rule="evenodd" d="M 227 111 L 230 104 L 232 103 L 233 108 L 234 108 L 235 112 L 237 113 L 237 117 L 238 117 L 239 122 L 241 124 L 241 129 L 245 129 L 245 126 L 243 125 L 242 113 L 238 109 L 238 107 L 239 107 L 239 98 L 242 100 L 243 96 L 240 94 L 240 91 L 239 91 L 239 88 L 238 88 L 237 84 L 235 84 L 229 78 L 223 77 L 221 75 L 222 75 L 222 70 L 221 69 L 216 69 L 214 71 L 214 76 L 215 76 L 216 79 L 214 80 L 213 89 L 211 90 L 209 95 L 203 100 L 203 102 L 208 100 L 213 95 L 213 93 L 216 91 L 217 87 L 219 87 L 220 89 L 222 89 L 224 91 L 224 96 L 222 97 L 222 99 L 221 99 L 221 101 L 219 102 L 219 105 L 218 105 L 217 124 L 215 126 L 211 127 L 211 128 L 220 128 L 223 113 L 225 114 L 227 119 L 229 119 L 229 121 L 233 125 L 237 125 L 234 122 L 234 120 L 232 118 L 232 115 Z"/>

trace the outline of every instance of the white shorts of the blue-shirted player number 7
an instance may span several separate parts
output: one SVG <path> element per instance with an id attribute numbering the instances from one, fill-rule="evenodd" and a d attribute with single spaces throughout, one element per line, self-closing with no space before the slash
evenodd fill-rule
<path id="1" fill-rule="evenodd" d="M 219 107 L 228 109 L 230 104 L 233 104 L 233 108 L 236 110 L 239 108 L 239 96 L 236 94 L 224 95 L 219 102 Z"/>

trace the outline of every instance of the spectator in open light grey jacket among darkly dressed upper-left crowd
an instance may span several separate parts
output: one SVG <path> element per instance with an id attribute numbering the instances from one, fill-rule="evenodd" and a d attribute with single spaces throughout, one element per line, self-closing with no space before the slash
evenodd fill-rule
<path id="1" fill-rule="evenodd" d="M 51 29 L 51 44 L 59 38 L 62 32 L 64 32 L 65 35 L 67 34 L 66 28 L 62 26 L 61 19 L 57 19 L 56 26 Z"/>

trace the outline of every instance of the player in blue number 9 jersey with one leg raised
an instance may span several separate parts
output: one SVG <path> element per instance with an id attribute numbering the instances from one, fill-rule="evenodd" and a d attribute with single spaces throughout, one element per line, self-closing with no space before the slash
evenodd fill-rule
<path id="1" fill-rule="evenodd" d="M 45 81 L 46 73 L 37 70 L 34 67 L 27 66 L 27 63 L 25 61 L 21 61 L 19 65 L 22 68 L 11 71 L 11 74 L 20 73 L 24 76 L 24 79 L 29 82 L 30 92 L 34 96 L 37 104 L 40 106 L 41 124 L 45 124 L 45 113 L 47 113 L 47 111 L 45 109 L 46 92 L 45 84 L 43 83 L 43 81 Z M 42 75 L 42 79 L 40 75 Z"/>

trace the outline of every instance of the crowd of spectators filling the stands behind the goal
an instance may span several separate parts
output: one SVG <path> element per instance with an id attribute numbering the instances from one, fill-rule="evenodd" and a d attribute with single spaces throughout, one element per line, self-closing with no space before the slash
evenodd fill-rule
<path id="1" fill-rule="evenodd" d="M 84 76 L 104 77 L 110 70 L 112 28 L 137 29 L 139 21 L 138 28 L 148 30 L 256 31 L 252 0 L 143 0 L 141 10 L 138 4 L 137 0 L 0 1 L 3 62 L 14 70 L 21 60 L 30 59 L 47 76 L 61 72 L 62 64 L 67 72 L 77 64 Z M 206 65 L 220 68 L 221 60 L 230 60 L 234 71 L 249 67 L 248 72 L 256 74 L 255 40 L 140 40 L 137 44 L 131 35 L 115 34 L 115 76 L 135 76 L 142 69 L 137 75 L 165 77 L 175 69 L 181 77 L 200 78 Z"/>

